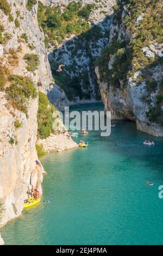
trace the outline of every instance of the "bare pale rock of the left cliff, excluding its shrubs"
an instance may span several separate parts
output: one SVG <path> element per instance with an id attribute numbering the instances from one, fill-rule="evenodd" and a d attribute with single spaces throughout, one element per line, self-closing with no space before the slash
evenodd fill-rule
<path id="1" fill-rule="evenodd" d="M 42 92 L 47 92 L 52 83 L 48 54 L 44 45 L 44 35 L 37 23 L 37 4 L 31 11 L 26 8 L 27 1 L 8 1 L 11 6 L 13 21 L 0 10 L 3 36 L 8 33 L 8 41 L 1 46 L 1 64 L 8 67 L 9 74 L 29 76 Z M 15 25 L 15 19 L 19 25 Z M 22 38 L 26 34 L 26 40 Z M 30 47 L 32 45 L 32 47 Z M 10 63 L 10 49 L 17 52 L 17 62 Z M 39 57 L 39 69 L 29 72 L 23 59 L 26 53 Z M 8 83 L 7 83 L 8 86 Z M 37 168 L 35 148 L 37 138 L 38 97 L 29 102 L 28 118 L 26 114 L 12 108 L 5 92 L 0 92 L 0 199 L 1 220 L 4 225 L 12 218 L 21 215 L 23 201 L 28 198 L 32 188 L 39 186 L 41 191 L 43 168 Z M 22 124 L 18 129 L 14 122 Z M 14 142 L 13 142 L 14 139 Z M 12 140 L 12 141 L 11 141 Z M 13 142 L 13 143 L 12 143 Z"/>

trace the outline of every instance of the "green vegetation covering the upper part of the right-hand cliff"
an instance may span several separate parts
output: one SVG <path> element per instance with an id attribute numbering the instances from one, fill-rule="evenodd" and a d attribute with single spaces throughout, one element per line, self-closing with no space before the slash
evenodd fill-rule
<path id="1" fill-rule="evenodd" d="M 123 15 L 122 15 L 123 13 Z M 123 20 L 122 20 L 123 16 Z M 150 122 L 163 125 L 163 111 L 161 108 L 163 86 L 161 77 L 157 81 L 153 77 L 154 68 L 161 70 L 163 57 L 154 53 L 145 54 L 146 49 L 152 53 L 151 48 L 156 43 L 163 42 L 163 3 L 160 0 L 122 0 L 117 1 L 114 10 L 114 25 L 126 31 L 126 34 L 115 33 L 102 54 L 96 60 L 100 79 L 115 88 L 128 86 L 129 79 L 139 86 L 145 82 L 149 106 L 147 117 Z M 120 27 L 121 26 L 121 27 Z M 145 50 L 143 50 L 145 49 Z M 108 69 L 108 63 L 111 68 Z M 137 75 L 136 75 L 137 74 Z M 155 94 L 154 102 L 150 95 Z"/>

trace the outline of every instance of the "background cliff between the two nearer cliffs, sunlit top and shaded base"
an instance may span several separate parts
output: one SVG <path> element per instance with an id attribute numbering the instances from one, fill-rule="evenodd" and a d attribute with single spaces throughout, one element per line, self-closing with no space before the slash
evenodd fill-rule
<path id="1" fill-rule="evenodd" d="M 51 41 L 51 44 L 49 44 L 49 62 L 57 84 L 48 93 L 49 99 L 59 109 L 74 103 L 100 100 L 93 63 L 109 42 L 112 7 L 115 1 L 75 1 L 81 3 L 79 13 L 82 8 L 87 8 L 87 10 L 89 7 L 92 8 L 89 17 L 83 16 L 82 18 L 74 10 L 71 12 L 68 4 L 74 1 L 52 0 L 41 2 L 50 5 L 52 8 L 58 8 L 54 10 L 61 11 L 60 20 L 65 19 L 65 22 L 67 22 L 67 26 L 63 22 L 61 23 L 62 28 L 56 29 L 56 34 L 60 36 L 53 39 L 52 35 L 52 40 L 49 40 Z M 72 15 L 70 20 L 67 20 L 67 17 L 64 16 L 67 11 L 69 11 L 69 17 Z M 45 22 L 42 27 L 45 28 Z M 44 30 L 49 36 L 49 31 Z M 60 63 L 65 64 L 64 72 L 61 74 L 56 72 Z"/>

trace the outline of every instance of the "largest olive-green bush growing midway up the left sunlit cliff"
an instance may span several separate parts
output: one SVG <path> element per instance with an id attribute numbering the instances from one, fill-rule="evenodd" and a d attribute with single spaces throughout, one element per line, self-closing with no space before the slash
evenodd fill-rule
<path id="1" fill-rule="evenodd" d="M 33 81 L 27 76 L 10 75 L 10 86 L 6 89 L 7 99 L 12 106 L 28 117 L 28 103 L 37 96 Z"/>

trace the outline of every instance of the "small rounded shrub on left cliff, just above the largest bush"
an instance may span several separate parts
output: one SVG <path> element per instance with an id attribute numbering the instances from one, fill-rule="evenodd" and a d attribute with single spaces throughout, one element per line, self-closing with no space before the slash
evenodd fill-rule
<path id="1" fill-rule="evenodd" d="M 27 63 L 26 69 L 29 72 L 34 72 L 36 69 L 38 69 L 40 62 L 39 62 L 39 57 L 36 54 L 26 53 L 23 59 L 26 60 L 26 63 Z"/>

